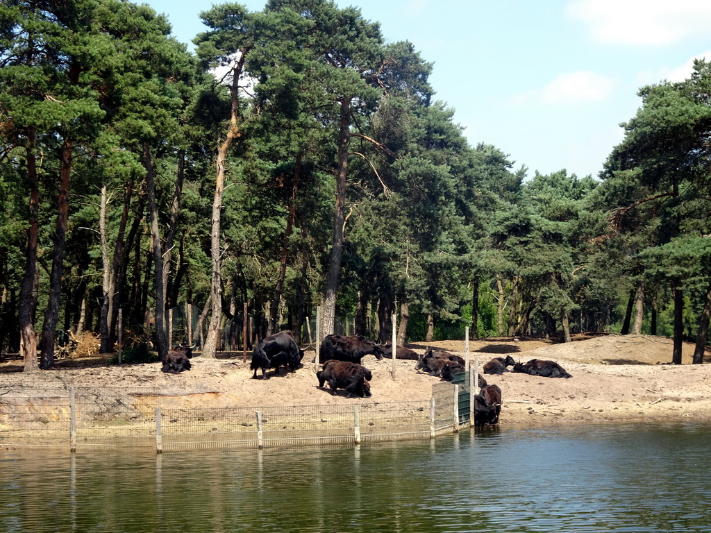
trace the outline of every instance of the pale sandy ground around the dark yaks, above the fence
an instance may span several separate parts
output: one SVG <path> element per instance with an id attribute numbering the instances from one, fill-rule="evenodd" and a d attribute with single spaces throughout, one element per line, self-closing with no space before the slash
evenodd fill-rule
<path id="1" fill-rule="evenodd" d="M 464 341 L 414 343 L 418 353 L 427 346 L 459 353 Z M 501 424 L 580 423 L 584 421 L 711 421 L 711 365 L 690 365 L 693 345 L 683 350 L 683 365 L 665 365 L 671 360 L 668 338 L 646 335 L 580 335 L 572 343 L 545 340 L 496 338 L 472 340 L 469 357 L 481 366 L 492 357 L 511 355 L 515 360 L 554 360 L 572 378 L 544 378 L 508 372 L 486 375 L 503 393 Z M 373 372 L 369 399 L 332 395 L 319 389 L 310 362 L 315 352 L 307 350 L 304 366 L 293 373 L 268 379 L 251 379 L 249 360 L 242 354 L 221 354 L 217 359 L 194 357 L 193 368 L 180 375 L 164 374 L 159 363 L 107 365 L 107 357 L 61 360 L 56 370 L 19 372 L 21 361 L 0 362 L 0 392 L 38 382 L 63 382 L 77 387 L 160 387 L 186 407 L 272 407 L 353 402 L 401 402 L 429 399 L 439 378 L 415 371 L 415 361 L 376 360 L 363 365 Z M 707 352 L 709 360 L 711 352 Z M 261 372 L 260 372 L 261 376 Z"/>

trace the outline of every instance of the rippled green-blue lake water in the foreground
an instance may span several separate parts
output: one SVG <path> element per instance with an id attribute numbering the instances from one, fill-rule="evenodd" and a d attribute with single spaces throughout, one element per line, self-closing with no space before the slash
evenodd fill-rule
<path id="1" fill-rule="evenodd" d="M 186 453 L 0 450 L 0 532 L 711 532 L 711 426 Z"/>

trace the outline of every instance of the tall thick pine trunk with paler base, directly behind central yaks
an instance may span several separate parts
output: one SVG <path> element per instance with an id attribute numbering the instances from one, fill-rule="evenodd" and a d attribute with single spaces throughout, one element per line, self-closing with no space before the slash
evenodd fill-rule
<path id="1" fill-rule="evenodd" d="M 326 273 L 324 294 L 324 314 L 321 317 L 321 335 L 332 335 L 336 322 L 336 291 L 338 276 L 341 273 L 341 256 L 343 255 L 343 225 L 346 208 L 346 178 L 348 177 L 348 139 L 349 124 L 348 109 L 350 100 L 341 100 L 341 121 L 338 133 L 338 174 L 336 176 L 336 209 L 333 212 L 333 242 L 331 257 Z"/>

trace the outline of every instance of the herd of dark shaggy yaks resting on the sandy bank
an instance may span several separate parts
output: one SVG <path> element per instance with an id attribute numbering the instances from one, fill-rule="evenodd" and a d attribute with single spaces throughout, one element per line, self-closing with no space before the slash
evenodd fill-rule
<path id="1" fill-rule="evenodd" d="M 190 370 L 192 348 L 184 345 L 171 350 L 164 357 L 161 370 L 172 373 Z M 349 398 L 371 396 L 370 381 L 373 379 L 373 374 L 360 364 L 365 355 L 375 355 L 378 360 L 392 357 L 392 344 L 375 343 L 362 335 L 326 335 L 320 348 L 321 370 L 316 372 L 319 387 L 324 388 L 328 383 L 331 394 L 336 394 L 337 389 L 343 389 L 348 393 Z M 417 372 L 425 372 L 446 381 L 451 381 L 454 375 L 465 370 L 464 359 L 445 350 L 427 348 L 422 354 L 402 346 L 397 346 L 396 350 L 396 359 L 417 360 L 415 365 Z M 301 367 L 303 357 L 304 350 L 299 348 L 291 331 L 283 330 L 269 335 L 257 344 L 252 352 L 250 364 L 250 370 L 254 371 L 252 378 L 257 379 L 257 370 L 260 369 L 262 379 L 267 379 L 267 370 L 274 370 L 274 373 L 278 374 L 282 367 L 286 367 L 289 372 L 295 372 Z M 513 360 L 510 355 L 494 357 L 483 365 L 483 373 L 501 375 L 503 372 L 509 372 L 508 367 L 512 367 L 511 372 L 540 377 L 571 377 L 555 361 L 532 359 L 521 363 Z M 501 388 L 496 384 L 487 384 L 481 374 L 478 375 L 477 385 L 479 393 L 474 395 L 474 423 L 477 426 L 498 424 L 502 402 Z"/>

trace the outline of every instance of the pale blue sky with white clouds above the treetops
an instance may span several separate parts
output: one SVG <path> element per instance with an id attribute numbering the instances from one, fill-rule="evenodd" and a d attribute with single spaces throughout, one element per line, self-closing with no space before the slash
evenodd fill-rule
<path id="1" fill-rule="evenodd" d="M 188 44 L 221 1 L 137 0 Z M 239 2 L 250 11 L 265 0 Z M 336 0 L 410 41 L 433 63 L 434 99 L 454 109 L 471 146 L 492 144 L 513 169 L 597 177 L 641 106 L 638 90 L 689 77 L 711 60 L 709 0 Z"/>

